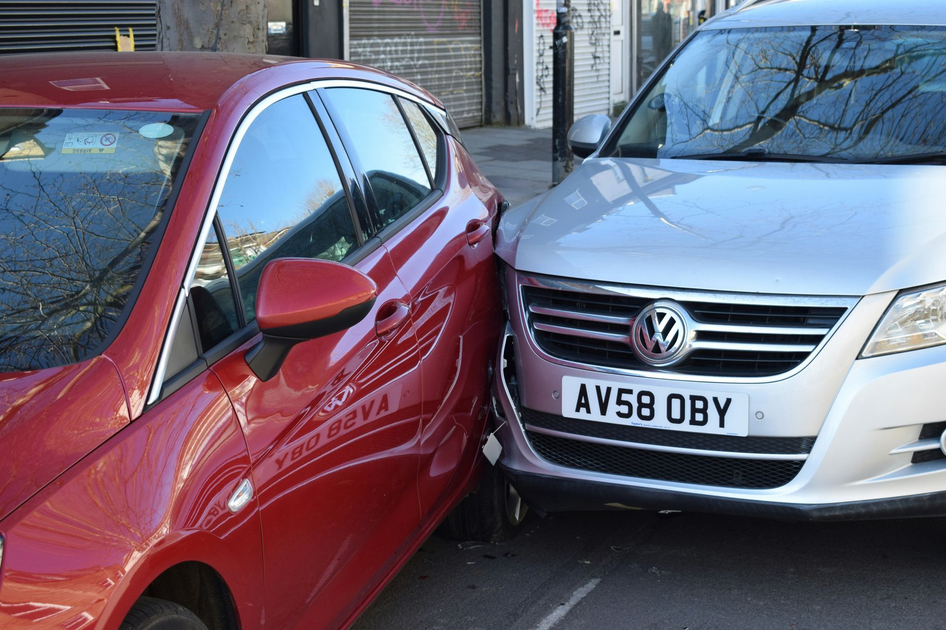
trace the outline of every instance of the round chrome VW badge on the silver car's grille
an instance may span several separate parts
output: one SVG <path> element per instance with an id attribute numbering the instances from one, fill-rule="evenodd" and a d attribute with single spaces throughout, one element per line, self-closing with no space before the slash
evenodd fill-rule
<path id="1" fill-rule="evenodd" d="M 631 326 L 631 345 L 639 360 L 650 366 L 669 366 L 690 346 L 688 317 L 683 307 L 657 301 L 642 310 Z"/>

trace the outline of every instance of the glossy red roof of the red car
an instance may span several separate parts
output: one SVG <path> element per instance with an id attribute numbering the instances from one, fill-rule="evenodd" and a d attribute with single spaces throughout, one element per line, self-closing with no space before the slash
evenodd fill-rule
<path id="1" fill-rule="evenodd" d="M 347 67 L 392 84 L 387 73 L 335 60 L 234 53 L 49 53 L 0 56 L 0 107 L 98 107 L 102 109 L 203 111 L 243 77 L 264 68 L 305 63 Z M 288 68 L 285 68 L 288 70 Z M 297 73 L 287 73 L 298 80 Z M 336 72 L 326 75 L 337 75 Z M 398 87 L 437 102 L 403 79 Z"/>

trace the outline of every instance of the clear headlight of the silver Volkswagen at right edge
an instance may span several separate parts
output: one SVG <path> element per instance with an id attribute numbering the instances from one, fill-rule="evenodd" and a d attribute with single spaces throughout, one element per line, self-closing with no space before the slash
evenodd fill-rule
<path id="1" fill-rule="evenodd" d="M 944 343 L 946 284 L 941 284 L 905 293 L 894 300 L 861 356 L 872 357 Z"/>

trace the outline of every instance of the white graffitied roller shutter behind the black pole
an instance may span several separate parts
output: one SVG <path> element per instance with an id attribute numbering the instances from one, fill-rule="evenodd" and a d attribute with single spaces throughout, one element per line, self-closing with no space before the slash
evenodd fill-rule
<path id="1" fill-rule="evenodd" d="M 535 127 L 552 127 L 552 28 L 555 0 L 535 5 Z M 611 5 L 571 0 L 575 29 L 575 120 L 610 112 Z"/>

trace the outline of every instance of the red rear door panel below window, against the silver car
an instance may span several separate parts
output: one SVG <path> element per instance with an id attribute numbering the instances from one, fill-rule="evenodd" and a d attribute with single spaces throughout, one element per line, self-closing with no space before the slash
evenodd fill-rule
<path id="1" fill-rule="evenodd" d="M 447 145 L 459 158 L 462 147 L 452 140 Z M 482 176 L 472 162 L 447 163 L 452 172 L 443 198 L 385 243 L 411 292 L 423 362 L 418 491 L 424 513 L 452 489 L 464 451 L 479 445 L 488 405 L 487 366 L 500 325 L 491 234 L 474 246 L 467 243 L 467 231 L 482 225 L 471 222 L 492 225 L 495 199 L 487 199 L 493 204 L 487 206 L 474 194 Z M 483 190 L 495 195 L 488 185 Z"/>

